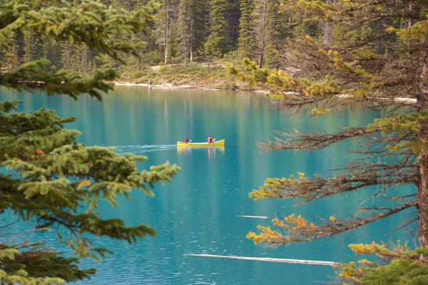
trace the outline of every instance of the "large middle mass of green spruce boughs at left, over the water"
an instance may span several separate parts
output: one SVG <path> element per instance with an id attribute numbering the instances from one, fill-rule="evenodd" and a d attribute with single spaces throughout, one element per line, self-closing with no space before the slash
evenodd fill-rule
<path id="1" fill-rule="evenodd" d="M 16 103 L 3 103 L 1 109 L 10 110 Z M 60 240 L 79 258 L 98 258 L 97 255 L 102 257 L 106 252 L 91 248 L 86 234 L 128 242 L 156 234 L 143 224 L 127 227 L 121 219 L 99 218 L 98 200 L 106 199 L 116 205 L 116 197 L 124 195 L 129 199 L 128 193 L 137 188 L 153 195 L 151 188 L 156 182 L 170 181 L 178 167 L 167 163 L 137 172 L 136 161 L 144 161 L 146 157 L 117 155 L 112 147 L 76 144 L 75 135 L 79 133 L 62 127 L 73 118 L 58 118 L 51 110 L 41 109 L 28 115 L 1 113 L 0 120 L 4 125 L 0 137 L 0 156 L 5 157 L 2 165 L 16 173 L 14 177 L 0 177 L 1 212 L 11 209 L 24 221 L 36 221 L 41 228 L 58 224 L 70 230 L 73 233 L 70 239 L 60 236 Z M 78 214 L 78 209 L 86 212 Z M 64 266 L 71 266 L 76 260 L 69 259 Z M 46 276 L 54 275 L 46 272 Z M 73 280 L 73 276 L 65 280 Z M 78 279 L 87 276 L 88 273 Z"/>

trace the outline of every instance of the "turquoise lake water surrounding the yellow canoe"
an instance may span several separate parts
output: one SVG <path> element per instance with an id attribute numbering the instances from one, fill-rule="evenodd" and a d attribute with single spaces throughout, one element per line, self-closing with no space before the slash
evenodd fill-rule
<path id="1" fill-rule="evenodd" d="M 267 177 L 288 177 L 297 172 L 327 175 L 327 170 L 351 160 L 348 150 L 357 146 L 344 142 L 317 152 L 264 152 L 255 142 L 272 138 L 274 130 L 334 131 L 337 125 L 367 125 L 378 113 L 343 110 L 322 117 L 290 116 L 269 108 L 270 100 L 255 93 L 138 87 L 116 88 L 104 96 L 103 103 L 86 96 L 74 101 L 8 90 L 0 95 L 0 100 L 12 99 L 24 99 L 25 111 L 44 107 L 63 117 L 77 116 L 76 123 L 67 128 L 81 130 L 79 141 L 147 155 L 149 160 L 138 165 L 140 170 L 165 161 L 182 167 L 173 182 L 156 187 L 156 197 L 136 191 L 131 202 L 121 199 L 118 207 L 101 204 L 103 217 L 121 217 L 128 224 L 143 222 L 157 229 L 158 235 L 132 245 L 95 238 L 96 245 L 113 249 L 115 254 L 102 263 L 83 261 L 83 266 L 96 266 L 98 273 L 82 284 L 315 284 L 334 281 L 333 269 L 187 254 L 347 262 L 362 259 L 347 247 L 350 243 L 413 241 L 414 232 L 407 230 L 388 234 L 409 217 L 409 212 L 337 237 L 279 248 L 255 246 L 245 238 L 258 224 L 270 225 L 275 216 L 295 213 L 315 221 L 332 215 L 353 217 L 356 212 L 352 208 L 367 199 L 364 195 L 339 195 L 304 207 L 290 207 L 293 201 L 289 200 L 254 202 L 248 193 L 263 185 Z M 210 134 L 217 140 L 225 139 L 225 147 L 178 150 L 175 146 L 185 136 L 203 142 Z M 53 235 L 39 234 L 37 238 L 62 249 Z"/>

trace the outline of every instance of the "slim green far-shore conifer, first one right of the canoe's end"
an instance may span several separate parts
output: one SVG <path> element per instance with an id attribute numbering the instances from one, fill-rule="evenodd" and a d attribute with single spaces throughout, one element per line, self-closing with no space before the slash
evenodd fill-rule
<path id="1" fill-rule="evenodd" d="M 240 11 L 238 55 L 254 61 L 258 55 L 254 0 L 240 0 Z"/>

